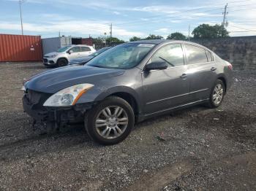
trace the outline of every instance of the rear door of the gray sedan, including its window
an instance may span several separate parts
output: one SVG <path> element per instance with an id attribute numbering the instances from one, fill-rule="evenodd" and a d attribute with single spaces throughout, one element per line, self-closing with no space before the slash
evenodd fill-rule
<path id="1" fill-rule="evenodd" d="M 187 55 L 190 100 L 207 99 L 217 78 L 213 55 L 195 44 L 184 44 L 184 47 Z"/>

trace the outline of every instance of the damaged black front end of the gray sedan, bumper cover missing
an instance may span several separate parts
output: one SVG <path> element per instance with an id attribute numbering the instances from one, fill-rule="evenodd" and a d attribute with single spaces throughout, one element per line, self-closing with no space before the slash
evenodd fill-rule
<path id="1" fill-rule="evenodd" d="M 34 119 L 34 123 L 59 128 L 63 125 L 83 122 L 84 114 L 94 105 L 94 103 L 89 103 L 67 107 L 42 106 L 49 97 L 48 93 L 39 93 L 33 90 L 27 90 L 23 96 L 24 112 Z"/>

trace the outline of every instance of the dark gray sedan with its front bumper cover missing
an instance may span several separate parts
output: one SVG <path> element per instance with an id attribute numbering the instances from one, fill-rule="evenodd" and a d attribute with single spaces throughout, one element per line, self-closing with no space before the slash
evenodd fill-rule
<path id="1" fill-rule="evenodd" d="M 199 44 L 129 42 L 85 66 L 32 77 L 23 87 L 23 108 L 48 127 L 83 121 L 91 139 L 117 144 L 135 122 L 196 104 L 219 106 L 232 75 L 230 63 Z"/>

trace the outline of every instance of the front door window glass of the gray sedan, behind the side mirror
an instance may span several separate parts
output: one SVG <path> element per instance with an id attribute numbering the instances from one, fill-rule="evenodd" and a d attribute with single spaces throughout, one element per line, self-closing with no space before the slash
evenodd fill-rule
<path id="1" fill-rule="evenodd" d="M 183 66 L 184 55 L 181 44 L 168 44 L 152 56 L 151 62 L 165 61 L 169 67 Z"/>

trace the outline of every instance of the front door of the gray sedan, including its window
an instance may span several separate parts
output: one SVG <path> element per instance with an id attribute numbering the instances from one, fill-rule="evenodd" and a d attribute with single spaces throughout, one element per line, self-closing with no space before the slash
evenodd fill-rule
<path id="1" fill-rule="evenodd" d="M 143 71 L 144 113 L 153 114 L 187 103 L 189 82 L 181 44 L 160 47 L 148 63 L 165 61 L 167 69 Z"/>

